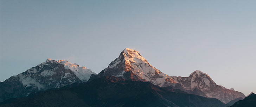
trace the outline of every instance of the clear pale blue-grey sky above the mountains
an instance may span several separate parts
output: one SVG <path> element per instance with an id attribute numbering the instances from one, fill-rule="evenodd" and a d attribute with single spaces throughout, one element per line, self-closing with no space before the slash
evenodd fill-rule
<path id="1" fill-rule="evenodd" d="M 53 60 L 95 73 L 124 48 L 171 76 L 256 92 L 255 0 L 0 0 L 0 81 Z"/>

